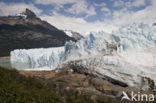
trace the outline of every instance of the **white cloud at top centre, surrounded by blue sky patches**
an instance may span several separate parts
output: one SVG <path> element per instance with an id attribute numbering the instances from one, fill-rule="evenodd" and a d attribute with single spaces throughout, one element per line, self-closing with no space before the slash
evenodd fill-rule
<path id="1" fill-rule="evenodd" d="M 93 6 L 89 6 L 86 0 L 35 0 L 35 3 L 53 5 L 56 11 L 63 8 L 66 12 L 76 15 L 82 13 L 87 14 L 87 16 L 96 15 L 95 8 Z M 72 4 L 72 7 L 65 9 L 63 7 L 65 4 Z"/>

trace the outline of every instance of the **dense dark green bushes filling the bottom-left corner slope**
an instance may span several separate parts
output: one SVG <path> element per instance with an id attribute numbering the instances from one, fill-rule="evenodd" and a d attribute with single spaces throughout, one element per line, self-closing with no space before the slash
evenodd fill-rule
<path id="1" fill-rule="evenodd" d="M 62 103 L 63 99 L 32 77 L 0 68 L 0 103 Z"/>

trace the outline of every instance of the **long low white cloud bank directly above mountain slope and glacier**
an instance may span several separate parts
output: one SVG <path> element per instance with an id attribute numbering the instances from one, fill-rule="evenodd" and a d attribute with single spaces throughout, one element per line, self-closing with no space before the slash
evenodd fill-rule
<path id="1" fill-rule="evenodd" d="M 47 20 L 52 25 L 55 25 L 59 29 L 70 29 L 79 32 L 87 31 L 99 31 L 104 30 L 111 32 L 116 30 L 122 25 L 131 23 L 147 23 L 152 24 L 156 21 L 156 0 L 150 0 L 151 5 L 139 11 L 132 11 L 128 8 L 122 8 L 111 12 L 113 15 L 112 19 L 104 18 L 104 21 L 87 22 L 83 18 L 65 17 L 61 14 L 55 14 L 53 16 L 42 16 L 42 19 Z M 102 8 L 103 11 L 109 12 L 110 10 L 106 7 Z"/>

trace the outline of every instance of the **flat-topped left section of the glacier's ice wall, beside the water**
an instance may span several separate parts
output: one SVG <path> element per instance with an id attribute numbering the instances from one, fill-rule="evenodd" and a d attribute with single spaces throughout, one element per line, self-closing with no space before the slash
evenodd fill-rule
<path id="1" fill-rule="evenodd" d="M 53 70 L 64 57 L 64 47 L 19 49 L 11 51 L 11 65 L 16 69 Z"/>

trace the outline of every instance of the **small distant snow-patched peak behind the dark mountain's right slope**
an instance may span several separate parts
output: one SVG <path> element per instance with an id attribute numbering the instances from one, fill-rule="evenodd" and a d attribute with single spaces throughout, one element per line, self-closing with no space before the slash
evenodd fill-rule
<path id="1" fill-rule="evenodd" d="M 72 30 L 63 30 L 68 36 L 74 38 L 75 40 L 80 40 L 84 38 L 80 33 L 74 32 Z"/>

